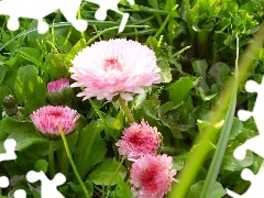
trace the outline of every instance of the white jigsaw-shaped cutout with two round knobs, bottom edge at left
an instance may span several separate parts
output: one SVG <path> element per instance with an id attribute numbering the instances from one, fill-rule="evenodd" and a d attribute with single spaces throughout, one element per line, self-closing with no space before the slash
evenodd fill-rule
<path id="1" fill-rule="evenodd" d="M 41 186 L 41 197 L 42 198 L 64 198 L 64 196 L 57 190 L 57 186 L 66 182 L 66 177 L 58 173 L 50 180 L 43 172 L 31 170 L 26 174 L 26 179 L 30 183 L 35 183 L 37 180 L 42 182 Z"/>

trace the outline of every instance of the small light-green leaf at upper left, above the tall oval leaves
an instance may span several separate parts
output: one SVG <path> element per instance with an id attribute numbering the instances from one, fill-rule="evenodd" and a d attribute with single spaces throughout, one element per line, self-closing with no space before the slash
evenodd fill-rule
<path id="1" fill-rule="evenodd" d="M 42 63 L 41 54 L 35 48 L 20 47 L 18 50 L 18 53 L 21 57 L 23 57 L 24 59 L 29 61 L 34 65 L 40 65 L 40 63 Z"/>

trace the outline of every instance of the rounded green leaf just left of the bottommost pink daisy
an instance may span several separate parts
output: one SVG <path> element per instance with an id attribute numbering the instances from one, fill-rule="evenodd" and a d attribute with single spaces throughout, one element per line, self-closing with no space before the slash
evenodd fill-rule
<path id="1" fill-rule="evenodd" d="M 117 177 L 125 178 L 127 169 L 121 165 L 118 174 L 114 172 L 119 163 L 113 158 L 105 158 L 92 172 L 89 174 L 88 179 L 96 185 L 101 186 L 113 186 L 117 184 Z"/>

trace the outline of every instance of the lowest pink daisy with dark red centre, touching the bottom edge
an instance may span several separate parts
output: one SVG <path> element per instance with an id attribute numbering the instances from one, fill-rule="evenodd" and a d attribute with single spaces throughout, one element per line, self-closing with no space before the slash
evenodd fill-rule
<path id="1" fill-rule="evenodd" d="M 162 198 L 170 190 L 176 173 L 173 157 L 147 154 L 132 164 L 131 190 L 139 198 Z"/>

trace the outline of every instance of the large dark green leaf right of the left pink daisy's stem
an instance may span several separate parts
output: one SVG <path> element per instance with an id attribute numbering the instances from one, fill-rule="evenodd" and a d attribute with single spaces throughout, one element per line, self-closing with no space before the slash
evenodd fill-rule
<path id="1" fill-rule="evenodd" d="M 82 179 L 96 164 L 105 158 L 106 153 L 107 146 L 100 136 L 98 123 L 91 121 L 79 133 L 77 147 L 75 150 L 76 167 Z"/>

